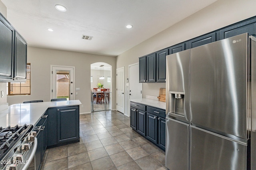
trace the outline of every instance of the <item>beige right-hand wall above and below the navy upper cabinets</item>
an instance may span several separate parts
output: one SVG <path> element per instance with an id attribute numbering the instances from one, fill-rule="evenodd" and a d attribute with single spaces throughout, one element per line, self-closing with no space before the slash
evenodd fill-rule
<path id="1" fill-rule="evenodd" d="M 138 57 L 256 16 L 255 6 L 256 0 L 218 0 L 119 55 L 116 68 L 125 67 L 126 80 L 128 78 L 128 65 L 137 63 Z M 157 25 L 152 26 L 157 27 Z M 158 96 L 158 90 L 162 87 L 165 87 L 165 83 L 143 83 L 143 97 L 146 95 Z M 125 114 L 128 114 L 129 111 L 128 96 L 126 90 Z"/>

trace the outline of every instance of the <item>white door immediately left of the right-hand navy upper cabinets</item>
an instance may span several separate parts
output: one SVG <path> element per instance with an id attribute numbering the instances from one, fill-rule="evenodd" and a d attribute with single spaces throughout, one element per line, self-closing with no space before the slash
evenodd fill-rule
<path id="1" fill-rule="evenodd" d="M 129 65 L 129 101 L 142 98 L 142 83 L 139 83 L 139 63 Z M 130 108 L 130 102 L 129 102 Z M 130 109 L 129 109 L 130 116 Z"/>

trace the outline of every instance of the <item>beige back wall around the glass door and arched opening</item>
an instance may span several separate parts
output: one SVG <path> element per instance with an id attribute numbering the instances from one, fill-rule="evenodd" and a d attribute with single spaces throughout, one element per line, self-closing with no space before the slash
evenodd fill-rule
<path id="1" fill-rule="evenodd" d="M 8 96 L 9 105 L 27 100 L 50 101 L 50 65 L 75 66 L 75 88 L 80 88 L 75 99 L 84 105 L 80 113 L 90 112 L 90 64 L 104 62 L 116 70 L 116 57 L 28 47 L 28 63 L 31 64 L 31 95 Z M 116 72 L 112 72 L 112 88 L 116 88 Z M 115 96 L 116 92 L 112 92 Z M 112 109 L 116 109 L 116 98 L 112 98 Z"/>

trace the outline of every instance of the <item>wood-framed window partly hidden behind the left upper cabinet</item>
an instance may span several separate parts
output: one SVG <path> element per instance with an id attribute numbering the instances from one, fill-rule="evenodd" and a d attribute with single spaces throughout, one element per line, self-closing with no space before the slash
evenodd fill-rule
<path id="1" fill-rule="evenodd" d="M 27 80 L 26 82 L 8 82 L 7 95 L 26 95 L 30 94 L 30 63 L 27 63 Z"/>

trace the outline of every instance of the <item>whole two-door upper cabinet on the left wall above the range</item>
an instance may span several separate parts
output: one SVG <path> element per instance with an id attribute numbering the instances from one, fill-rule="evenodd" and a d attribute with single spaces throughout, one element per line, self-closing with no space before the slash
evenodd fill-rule
<path id="1" fill-rule="evenodd" d="M 0 14 L 0 82 L 25 82 L 27 42 Z"/>

